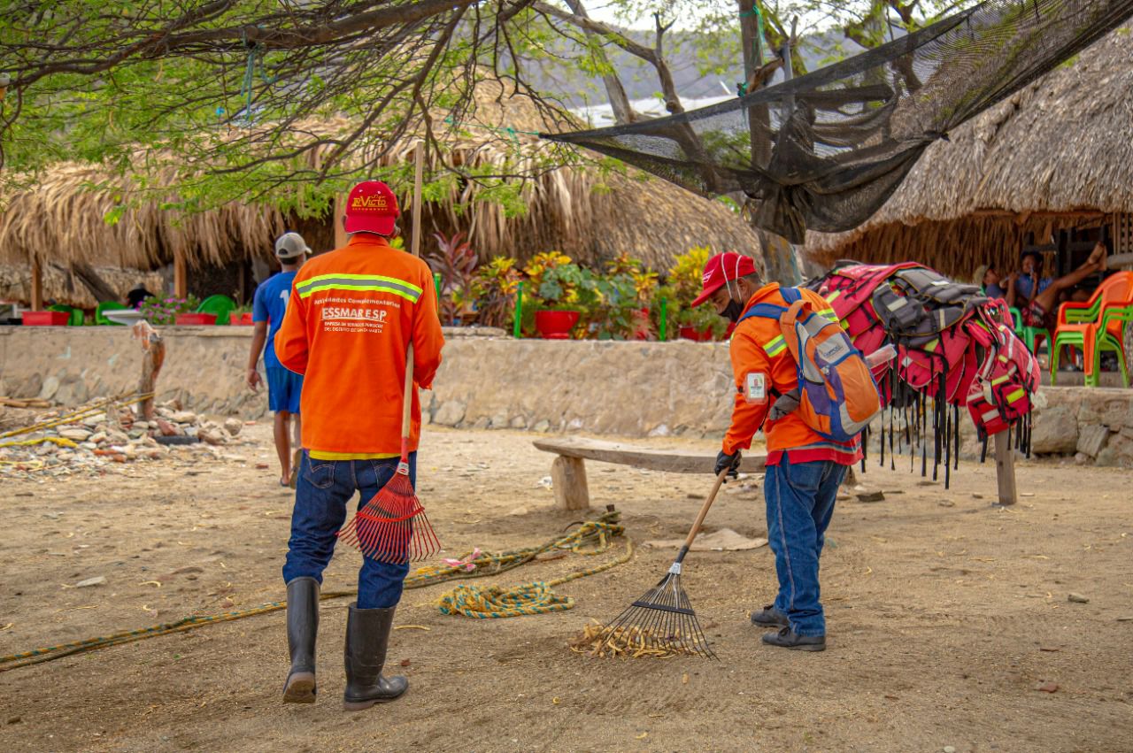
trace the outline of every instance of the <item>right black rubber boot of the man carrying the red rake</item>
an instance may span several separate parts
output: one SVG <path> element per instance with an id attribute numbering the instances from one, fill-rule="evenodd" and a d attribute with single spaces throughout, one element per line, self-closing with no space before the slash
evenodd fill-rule
<path id="1" fill-rule="evenodd" d="M 382 676 L 395 609 L 359 609 L 357 604 L 350 605 L 347 618 L 347 692 L 342 698 L 342 708 L 347 711 L 361 711 L 375 703 L 393 701 L 409 690 L 409 681 L 404 677 Z"/>

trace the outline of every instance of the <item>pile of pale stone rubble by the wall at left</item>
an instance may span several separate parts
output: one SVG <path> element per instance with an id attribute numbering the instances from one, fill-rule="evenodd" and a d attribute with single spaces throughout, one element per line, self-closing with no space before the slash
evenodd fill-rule
<path id="1" fill-rule="evenodd" d="M 223 446 L 241 442 L 244 421 L 239 419 L 221 425 L 181 410 L 177 401 L 157 408 L 151 421 L 136 410 L 93 404 L 40 413 L 28 426 L 43 428 L 0 438 L 0 474 L 105 472 L 113 463 L 159 460 L 174 448 L 221 459 L 228 457 L 221 452 Z"/>

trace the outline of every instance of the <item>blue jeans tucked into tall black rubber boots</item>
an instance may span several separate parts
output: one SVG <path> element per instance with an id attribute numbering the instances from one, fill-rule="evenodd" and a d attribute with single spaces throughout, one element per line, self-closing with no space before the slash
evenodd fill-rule
<path id="1" fill-rule="evenodd" d="M 288 541 L 283 582 L 314 577 L 323 582 L 323 570 L 334 554 L 335 533 L 347 519 L 347 503 L 361 491 L 363 507 L 390 482 L 399 457 L 389 460 L 312 460 L 305 450 L 299 465 L 291 513 L 291 540 Z M 409 480 L 417 486 L 417 453 L 409 454 Z M 358 571 L 358 608 L 393 607 L 401 600 L 409 563 L 389 564 L 363 557 Z"/>

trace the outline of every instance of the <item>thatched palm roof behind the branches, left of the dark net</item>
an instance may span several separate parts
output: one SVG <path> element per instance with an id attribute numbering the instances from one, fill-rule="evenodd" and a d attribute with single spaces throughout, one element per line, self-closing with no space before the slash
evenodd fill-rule
<path id="1" fill-rule="evenodd" d="M 503 96 L 503 89 L 491 89 L 489 84 L 477 91 L 475 123 L 440 126 L 444 152 L 431 155 L 431 170 L 508 164 L 512 174 L 522 174 L 542 152 L 553 148 L 522 132 L 539 128 L 530 104 Z M 349 123 L 324 122 L 323 128 L 343 130 Z M 519 132 L 501 137 L 504 128 Z M 411 160 L 418 143 L 407 138 L 394 145 L 390 161 Z M 321 157 L 312 155 L 314 163 Z M 242 204 L 186 215 L 148 202 L 108 224 L 104 217 L 134 187 L 123 178 L 93 188 L 105 176 L 96 165 L 63 164 L 34 188 L 10 197 L 0 214 L 0 262 L 26 264 L 39 257 L 155 268 L 180 255 L 190 266 L 220 265 L 255 256 L 270 258 L 272 241 L 287 229 L 318 236 L 318 240 L 308 238 L 313 246 L 323 247 L 316 250 L 329 247 L 333 237 L 329 213 L 321 222 L 300 222 L 269 206 Z M 453 188 L 448 200 L 427 204 L 423 229 L 463 231 L 483 257 L 505 255 L 521 260 L 552 249 L 590 262 L 629 251 L 655 267 L 666 267 L 674 255 L 692 246 L 753 254 L 759 249 L 752 230 L 726 206 L 659 180 L 600 176 L 593 169 L 554 170 L 522 185 L 528 212 L 520 216 L 506 216 L 496 204 L 475 202 L 479 191 L 477 185 L 467 183 Z M 408 219 L 404 225 L 409 226 Z M 429 242 L 426 236 L 426 250 Z"/>

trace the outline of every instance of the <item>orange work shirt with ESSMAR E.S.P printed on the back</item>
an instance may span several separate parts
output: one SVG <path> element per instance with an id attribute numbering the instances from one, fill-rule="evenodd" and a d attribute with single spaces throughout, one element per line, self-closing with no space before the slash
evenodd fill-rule
<path id="1" fill-rule="evenodd" d="M 314 257 L 295 277 L 275 354 L 304 375 L 303 446 L 357 455 L 401 453 L 406 352 L 414 382 L 433 385 L 441 366 L 441 320 L 433 274 L 381 236 L 357 233 Z M 409 451 L 420 438 L 414 391 Z"/>

